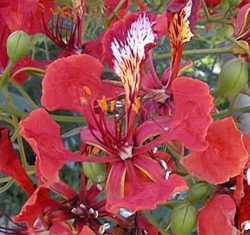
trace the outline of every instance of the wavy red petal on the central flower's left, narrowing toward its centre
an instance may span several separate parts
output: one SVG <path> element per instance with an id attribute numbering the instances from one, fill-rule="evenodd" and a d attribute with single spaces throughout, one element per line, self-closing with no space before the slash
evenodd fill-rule
<path id="1" fill-rule="evenodd" d="M 44 109 L 37 109 L 20 122 L 20 133 L 36 153 L 37 170 L 49 182 L 58 182 L 58 171 L 79 156 L 64 148 L 60 127 Z"/>

